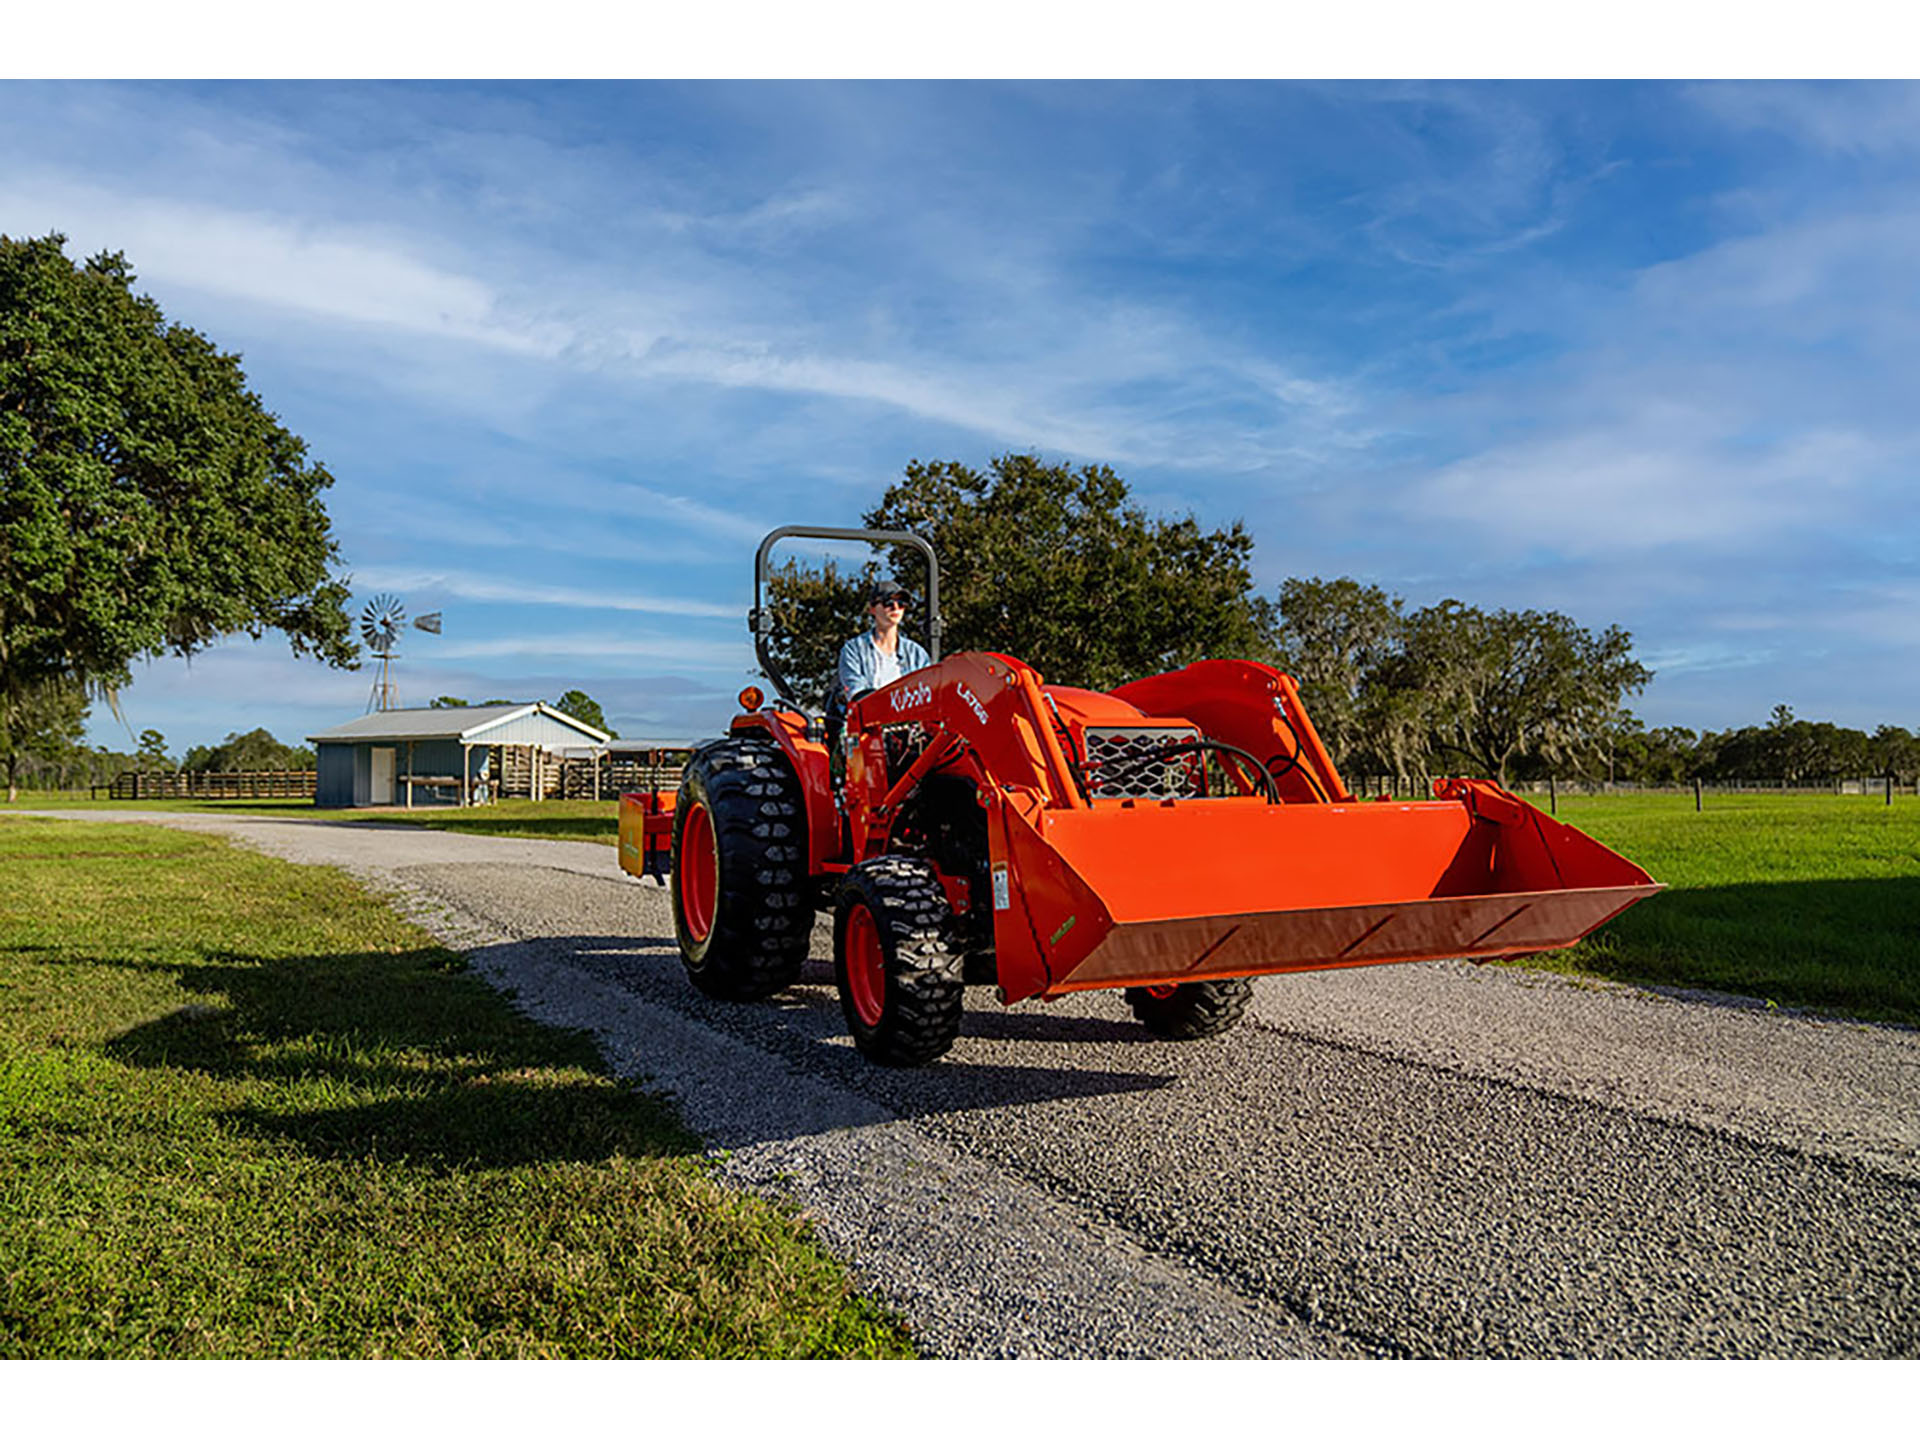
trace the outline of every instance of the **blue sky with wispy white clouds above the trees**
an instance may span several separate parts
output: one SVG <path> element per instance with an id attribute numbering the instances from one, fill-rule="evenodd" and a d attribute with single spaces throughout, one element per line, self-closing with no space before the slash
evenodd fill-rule
<path id="1" fill-rule="evenodd" d="M 125 250 L 336 476 L 405 703 L 724 724 L 774 524 L 1037 449 L 1265 593 L 1622 624 L 1649 724 L 1920 726 L 1920 88 L 0 84 L 0 230 Z M 1060 680 L 1071 680 L 1060 676 Z M 367 672 L 136 664 L 175 753 Z"/>

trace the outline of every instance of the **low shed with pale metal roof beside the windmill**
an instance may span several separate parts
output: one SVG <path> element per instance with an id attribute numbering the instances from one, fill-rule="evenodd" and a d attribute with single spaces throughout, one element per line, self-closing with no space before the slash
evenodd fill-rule
<path id="1" fill-rule="evenodd" d="M 541 768 L 576 745 L 607 735 L 551 705 L 467 705 L 447 710 L 378 710 L 307 735 L 319 770 L 313 803 L 480 804 L 499 793 L 507 756 L 530 768 L 534 795 Z"/>

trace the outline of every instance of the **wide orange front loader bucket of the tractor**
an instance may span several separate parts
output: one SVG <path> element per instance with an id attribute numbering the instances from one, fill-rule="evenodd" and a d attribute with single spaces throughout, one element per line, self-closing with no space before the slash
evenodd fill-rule
<path id="1" fill-rule="evenodd" d="M 1006 816 L 1008 1000 L 1555 950 L 1661 889 L 1486 781 L 1444 781 L 1442 799 L 1421 803 L 1179 799 Z"/>

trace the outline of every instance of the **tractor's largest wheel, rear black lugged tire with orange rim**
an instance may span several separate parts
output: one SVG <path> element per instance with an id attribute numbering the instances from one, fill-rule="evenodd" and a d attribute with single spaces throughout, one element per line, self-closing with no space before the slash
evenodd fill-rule
<path id="1" fill-rule="evenodd" d="M 685 852 L 689 828 L 703 854 Z M 778 745 L 730 737 L 687 760 L 672 893 L 680 958 L 703 995 L 764 1000 L 801 977 L 812 931 L 806 803 Z"/>

